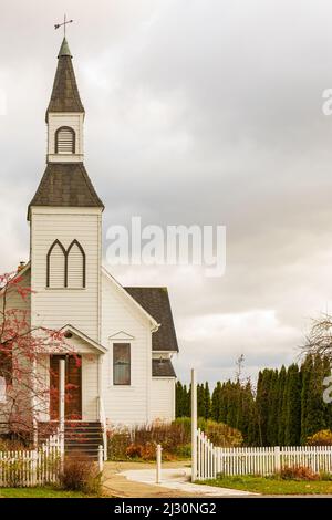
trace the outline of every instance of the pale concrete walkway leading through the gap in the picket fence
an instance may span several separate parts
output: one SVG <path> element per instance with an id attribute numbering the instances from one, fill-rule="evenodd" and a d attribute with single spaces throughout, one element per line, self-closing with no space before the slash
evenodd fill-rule
<path id="1" fill-rule="evenodd" d="M 155 465 L 144 462 L 106 462 L 103 486 L 115 497 L 181 498 L 181 497 L 252 497 L 236 489 L 191 483 L 190 467 L 184 462 L 165 462 L 162 483 L 155 483 Z"/>

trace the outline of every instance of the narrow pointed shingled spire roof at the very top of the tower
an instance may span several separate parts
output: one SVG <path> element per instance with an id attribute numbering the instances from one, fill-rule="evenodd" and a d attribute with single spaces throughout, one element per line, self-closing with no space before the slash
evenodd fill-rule
<path id="1" fill-rule="evenodd" d="M 63 39 L 58 60 L 53 91 L 46 110 L 46 122 L 50 112 L 84 113 L 84 106 L 81 102 L 72 63 L 72 55 L 65 38 Z"/>

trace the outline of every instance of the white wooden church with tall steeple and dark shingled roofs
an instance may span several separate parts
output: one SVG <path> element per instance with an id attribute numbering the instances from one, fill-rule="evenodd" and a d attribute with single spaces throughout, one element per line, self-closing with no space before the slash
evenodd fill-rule
<path id="1" fill-rule="evenodd" d="M 102 266 L 104 206 L 84 167 L 84 107 L 65 39 L 46 125 L 46 167 L 28 209 L 30 261 L 20 275 L 33 291 L 31 327 L 63 331 L 81 358 L 72 370 L 65 355 L 75 388 L 65 416 L 97 423 L 102 407 L 110 425 L 169 422 L 178 345 L 167 289 L 122 287 Z M 51 387 L 61 355 L 43 357 L 37 370 Z M 53 401 L 40 420 L 56 420 Z"/>

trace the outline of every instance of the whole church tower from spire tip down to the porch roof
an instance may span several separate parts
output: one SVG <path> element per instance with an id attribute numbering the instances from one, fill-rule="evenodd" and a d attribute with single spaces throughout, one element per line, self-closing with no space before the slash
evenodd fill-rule
<path id="1" fill-rule="evenodd" d="M 101 336 L 102 212 L 84 167 L 85 111 L 65 38 L 46 110 L 46 167 L 28 209 L 32 326 Z"/>

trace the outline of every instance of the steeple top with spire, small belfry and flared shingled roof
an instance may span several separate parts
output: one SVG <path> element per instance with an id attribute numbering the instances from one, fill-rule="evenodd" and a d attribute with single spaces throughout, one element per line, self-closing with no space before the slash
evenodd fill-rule
<path id="1" fill-rule="evenodd" d="M 64 38 L 46 111 L 48 165 L 30 202 L 29 219 L 31 208 L 41 206 L 104 209 L 83 164 L 84 116 L 72 54 Z"/>

